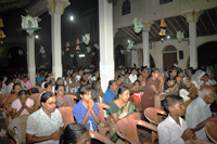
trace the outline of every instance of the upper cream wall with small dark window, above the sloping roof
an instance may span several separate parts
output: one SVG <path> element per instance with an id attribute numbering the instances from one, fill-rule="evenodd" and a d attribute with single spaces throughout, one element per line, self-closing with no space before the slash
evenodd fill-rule
<path id="1" fill-rule="evenodd" d="M 129 0 L 131 13 L 122 15 L 124 1 L 117 0 L 114 4 L 114 28 L 132 25 L 135 17 L 142 18 L 142 21 L 157 21 L 162 16 L 166 18 L 180 15 L 182 11 L 192 9 L 207 10 L 217 5 L 217 0 L 188 0 L 188 2 L 186 0 L 174 0 L 163 5 L 159 4 L 159 0 Z"/>

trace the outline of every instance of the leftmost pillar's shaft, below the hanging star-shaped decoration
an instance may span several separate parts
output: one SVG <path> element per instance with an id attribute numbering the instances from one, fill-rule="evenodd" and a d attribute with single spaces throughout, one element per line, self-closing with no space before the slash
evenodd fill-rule
<path id="1" fill-rule="evenodd" d="M 27 64 L 28 79 L 33 86 L 36 86 L 36 63 L 35 63 L 35 35 L 26 36 L 27 43 Z"/>

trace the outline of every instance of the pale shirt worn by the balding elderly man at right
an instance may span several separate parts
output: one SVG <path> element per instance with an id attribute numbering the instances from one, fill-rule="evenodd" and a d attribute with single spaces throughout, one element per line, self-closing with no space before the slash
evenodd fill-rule
<path id="1" fill-rule="evenodd" d="M 191 102 L 187 108 L 186 120 L 189 128 L 195 128 L 199 123 L 212 117 L 209 106 L 200 96 Z M 205 127 L 195 132 L 197 139 L 208 141 Z"/>

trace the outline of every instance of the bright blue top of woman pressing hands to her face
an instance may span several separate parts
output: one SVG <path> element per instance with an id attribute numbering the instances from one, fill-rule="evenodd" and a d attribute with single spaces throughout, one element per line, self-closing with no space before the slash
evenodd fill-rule
<path id="1" fill-rule="evenodd" d="M 99 115 L 99 106 L 97 103 L 94 103 L 94 106 L 92 108 L 94 110 L 94 113 L 97 114 L 97 116 L 100 118 L 100 115 Z M 73 115 L 75 116 L 75 119 L 78 123 L 81 123 L 82 122 L 82 119 L 87 113 L 87 108 L 84 106 L 81 100 L 73 107 Z M 88 117 L 88 120 L 87 122 L 85 123 L 85 126 L 89 129 L 89 130 L 93 130 L 93 131 L 97 131 L 97 127 L 98 127 L 98 123 L 95 122 L 91 112 L 90 112 L 90 115 Z"/>

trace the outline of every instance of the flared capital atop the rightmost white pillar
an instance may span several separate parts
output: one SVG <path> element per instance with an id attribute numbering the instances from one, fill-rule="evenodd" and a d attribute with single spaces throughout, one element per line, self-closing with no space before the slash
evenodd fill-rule
<path id="1" fill-rule="evenodd" d="M 203 14 L 204 12 L 202 10 L 188 10 L 183 11 L 181 15 L 186 17 L 187 23 L 191 22 L 199 22 L 199 17 Z"/>

